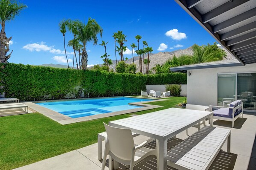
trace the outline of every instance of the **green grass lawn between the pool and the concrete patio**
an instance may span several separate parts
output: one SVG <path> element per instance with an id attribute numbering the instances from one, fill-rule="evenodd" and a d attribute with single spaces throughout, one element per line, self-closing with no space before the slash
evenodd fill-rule
<path id="1" fill-rule="evenodd" d="M 131 114 L 144 114 L 175 107 L 185 97 L 164 98 L 151 104 L 163 107 Z M 61 125 L 40 113 L 0 117 L 0 170 L 10 170 L 60 155 L 97 142 L 103 122 L 127 118 L 130 114 Z"/>

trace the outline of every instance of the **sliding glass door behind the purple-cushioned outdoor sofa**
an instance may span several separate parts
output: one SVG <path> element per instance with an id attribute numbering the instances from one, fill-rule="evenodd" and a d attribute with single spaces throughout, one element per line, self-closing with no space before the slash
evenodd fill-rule
<path id="1" fill-rule="evenodd" d="M 256 110 L 256 73 L 218 74 L 217 100 L 218 106 L 223 101 L 241 100 L 244 109 Z"/>

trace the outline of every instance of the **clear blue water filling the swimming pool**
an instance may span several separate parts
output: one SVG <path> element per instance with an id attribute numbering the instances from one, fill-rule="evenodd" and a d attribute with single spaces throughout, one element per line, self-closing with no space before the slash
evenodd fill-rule
<path id="1" fill-rule="evenodd" d="M 152 99 L 118 97 L 85 99 L 77 101 L 45 102 L 38 104 L 42 107 L 54 110 L 55 112 L 59 112 L 71 118 L 79 118 L 83 116 L 135 109 L 139 108 L 140 106 L 129 105 L 128 103 L 151 100 Z"/>

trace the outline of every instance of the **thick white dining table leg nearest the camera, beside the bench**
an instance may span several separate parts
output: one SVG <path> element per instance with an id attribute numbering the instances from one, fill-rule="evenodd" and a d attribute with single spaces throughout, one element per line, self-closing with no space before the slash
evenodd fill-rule
<path id="1" fill-rule="evenodd" d="M 157 165 L 158 170 L 167 170 L 167 139 L 156 140 L 158 146 Z"/>

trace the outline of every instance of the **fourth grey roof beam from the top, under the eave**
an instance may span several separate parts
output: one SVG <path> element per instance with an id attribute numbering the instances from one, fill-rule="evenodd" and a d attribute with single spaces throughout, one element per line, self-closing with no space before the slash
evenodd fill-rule
<path id="1" fill-rule="evenodd" d="M 237 29 L 234 29 L 232 31 L 226 32 L 226 33 L 220 35 L 220 40 L 223 41 L 223 40 L 226 40 L 228 38 L 234 37 L 236 35 L 242 34 L 244 32 L 248 32 L 250 30 L 256 29 L 255 26 L 256 26 L 256 21 L 254 21 L 252 23 L 249 23 L 247 25 L 241 26 L 241 27 L 239 27 Z"/>

